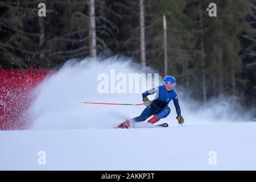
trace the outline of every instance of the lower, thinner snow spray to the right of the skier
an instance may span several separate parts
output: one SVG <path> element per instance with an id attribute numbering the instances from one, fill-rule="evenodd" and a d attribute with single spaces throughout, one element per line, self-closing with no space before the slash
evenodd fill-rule
<path id="1" fill-rule="evenodd" d="M 235 96 L 218 96 L 202 104 L 191 96 L 186 96 L 185 90 L 180 91 L 178 90 L 177 93 L 180 93 L 181 113 L 187 119 L 188 125 L 253 121 L 249 111 L 241 106 Z M 172 106 L 172 111 L 174 110 Z"/>

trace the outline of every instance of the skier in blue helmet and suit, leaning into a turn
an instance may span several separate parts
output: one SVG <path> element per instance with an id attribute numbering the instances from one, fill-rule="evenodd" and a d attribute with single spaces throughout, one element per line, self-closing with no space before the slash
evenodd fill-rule
<path id="1" fill-rule="evenodd" d="M 148 90 L 142 93 L 142 98 L 144 105 L 147 106 L 138 117 L 133 119 L 127 119 L 125 122 L 118 125 L 118 128 L 130 128 L 133 122 L 142 122 L 147 118 L 154 115 L 151 119 L 149 119 L 148 123 L 156 123 L 162 118 L 166 118 L 170 114 L 170 107 L 168 104 L 171 100 L 174 101 L 177 117 L 179 124 L 182 125 L 184 123 L 184 119 L 181 116 L 179 101 L 177 98 L 177 94 L 173 90 L 176 84 L 176 80 L 172 76 L 164 77 L 163 85 L 158 86 L 154 89 Z M 148 100 L 147 96 L 150 94 L 156 93 L 156 98 L 152 102 Z"/>

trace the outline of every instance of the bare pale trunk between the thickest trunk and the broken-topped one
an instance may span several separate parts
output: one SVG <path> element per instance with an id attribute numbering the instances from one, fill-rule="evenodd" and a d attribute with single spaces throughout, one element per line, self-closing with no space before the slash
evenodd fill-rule
<path id="1" fill-rule="evenodd" d="M 145 48 L 145 26 L 144 26 L 144 0 L 139 0 L 139 24 L 141 30 L 141 64 L 146 67 L 146 48 Z"/>

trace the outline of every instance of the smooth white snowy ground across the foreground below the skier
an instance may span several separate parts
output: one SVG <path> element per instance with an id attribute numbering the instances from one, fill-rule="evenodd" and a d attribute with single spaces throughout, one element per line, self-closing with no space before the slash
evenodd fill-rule
<path id="1" fill-rule="evenodd" d="M 256 122 L 0 131 L 0 169 L 256 170 Z M 46 152 L 46 165 L 38 152 Z M 209 152 L 217 164 L 209 164 Z"/>

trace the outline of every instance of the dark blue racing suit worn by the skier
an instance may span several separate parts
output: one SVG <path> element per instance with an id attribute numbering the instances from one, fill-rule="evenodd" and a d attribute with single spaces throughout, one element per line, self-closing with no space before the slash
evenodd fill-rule
<path id="1" fill-rule="evenodd" d="M 150 106 L 147 106 L 138 117 L 131 119 L 134 122 L 142 122 L 149 118 L 151 115 L 156 115 L 158 119 L 166 118 L 170 114 L 171 109 L 168 104 L 171 100 L 174 101 L 177 115 L 181 115 L 179 101 L 176 92 L 172 89 L 167 91 L 165 86 L 158 86 L 154 89 L 148 90 L 142 93 L 142 97 L 156 93 L 155 100 L 151 102 Z"/>

